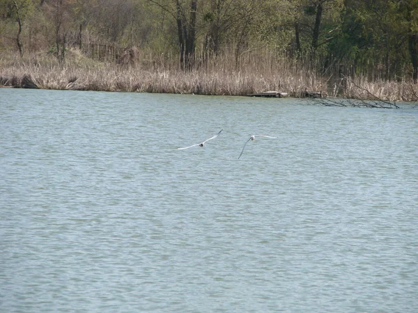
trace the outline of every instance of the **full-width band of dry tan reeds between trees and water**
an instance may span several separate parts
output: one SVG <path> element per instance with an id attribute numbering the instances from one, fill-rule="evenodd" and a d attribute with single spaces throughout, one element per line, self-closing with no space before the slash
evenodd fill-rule
<path id="1" fill-rule="evenodd" d="M 305 90 L 326 92 L 332 97 L 415 102 L 418 87 L 410 81 L 367 81 L 319 77 L 293 61 L 266 54 L 240 58 L 217 58 L 191 72 L 178 70 L 176 61 L 143 56 L 134 65 L 117 65 L 86 58 L 77 50 L 68 51 L 64 66 L 50 54 L 0 59 L 0 86 L 25 87 L 30 81 L 38 88 L 100 90 L 197 95 L 248 95 L 268 90 L 303 97 Z M 152 61 L 150 61 L 152 60 Z"/>

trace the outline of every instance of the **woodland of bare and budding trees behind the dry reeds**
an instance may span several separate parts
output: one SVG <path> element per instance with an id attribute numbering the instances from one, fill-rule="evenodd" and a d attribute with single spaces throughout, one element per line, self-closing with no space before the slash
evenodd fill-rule
<path id="1" fill-rule="evenodd" d="M 54 51 L 89 43 L 209 58 L 269 49 L 322 74 L 418 77 L 417 0 L 0 0 L 0 50 Z"/>

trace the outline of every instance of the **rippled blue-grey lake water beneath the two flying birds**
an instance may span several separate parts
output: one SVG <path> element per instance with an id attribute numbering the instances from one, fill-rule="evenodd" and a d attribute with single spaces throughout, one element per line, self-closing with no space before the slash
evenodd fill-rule
<path id="1" fill-rule="evenodd" d="M 3 88 L 0 212 L 1 312 L 417 312 L 418 108 Z"/>

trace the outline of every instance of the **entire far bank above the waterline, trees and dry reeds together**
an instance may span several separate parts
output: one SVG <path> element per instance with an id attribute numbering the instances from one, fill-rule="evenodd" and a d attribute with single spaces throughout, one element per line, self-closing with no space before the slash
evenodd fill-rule
<path id="1" fill-rule="evenodd" d="M 4 87 L 418 101 L 412 0 L 0 0 L 0 33 Z"/>

